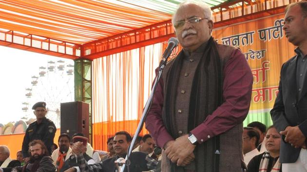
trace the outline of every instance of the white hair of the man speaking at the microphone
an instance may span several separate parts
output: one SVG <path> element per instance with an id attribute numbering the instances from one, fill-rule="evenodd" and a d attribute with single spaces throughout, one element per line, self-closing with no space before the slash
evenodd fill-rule
<path id="1" fill-rule="evenodd" d="M 178 4 L 178 7 L 177 7 L 177 9 L 176 9 L 176 11 L 175 11 L 175 13 L 172 17 L 172 23 L 173 24 L 175 22 L 174 17 L 176 16 L 178 9 L 181 8 L 182 6 L 186 6 L 188 4 L 195 4 L 195 5 L 199 6 L 200 8 L 203 9 L 205 17 L 208 18 L 208 19 L 211 19 L 212 11 L 211 11 L 211 8 L 208 6 L 208 4 L 206 2 L 203 2 L 203 1 L 200 1 L 200 0 L 186 0 L 186 1 Z"/>

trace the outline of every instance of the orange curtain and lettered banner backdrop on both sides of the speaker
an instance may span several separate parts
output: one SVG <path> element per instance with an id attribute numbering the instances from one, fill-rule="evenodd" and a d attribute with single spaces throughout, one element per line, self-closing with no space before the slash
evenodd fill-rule
<path id="1" fill-rule="evenodd" d="M 278 93 L 282 64 L 294 55 L 283 33 L 284 14 L 214 29 L 218 43 L 245 54 L 254 83 L 246 126 L 251 121 L 272 124 L 269 111 Z M 120 130 L 132 135 L 148 99 L 160 56 L 167 43 L 154 44 L 94 60 L 93 137 L 95 149 L 106 150 L 108 137 Z M 178 52 L 180 48 L 176 49 Z M 147 133 L 143 129 L 141 135 Z"/>

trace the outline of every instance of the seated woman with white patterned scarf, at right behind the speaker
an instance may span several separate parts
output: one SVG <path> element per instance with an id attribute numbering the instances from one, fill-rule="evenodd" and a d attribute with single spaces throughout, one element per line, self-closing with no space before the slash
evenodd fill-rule
<path id="1" fill-rule="evenodd" d="M 281 172 L 279 163 L 281 136 L 272 125 L 267 130 L 264 143 L 267 151 L 256 155 L 249 161 L 247 172 Z"/>

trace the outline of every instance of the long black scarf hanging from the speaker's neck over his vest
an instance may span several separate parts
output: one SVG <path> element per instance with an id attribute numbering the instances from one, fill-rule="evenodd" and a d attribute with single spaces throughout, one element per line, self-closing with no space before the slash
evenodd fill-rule
<path id="1" fill-rule="evenodd" d="M 164 125 L 173 138 L 179 137 L 173 121 L 175 119 L 176 88 L 183 58 L 184 53 L 180 52 L 176 59 L 174 59 L 167 73 L 164 87 L 165 96 L 162 118 Z M 188 131 L 191 131 L 202 123 L 208 115 L 222 104 L 222 86 L 223 76 L 221 60 L 217 51 L 217 45 L 211 37 L 196 67 L 193 78 L 191 97 L 189 100 Z M 211 94 L 211 97 L 209 94 Z M 196 172 L 204 172 L 205 170 L 206 172 L 218 172 L 219 154 L 215 154 L 215 151 L 219 151 L 219 146 L 218 136 L 196 146 L 194 150 Z M 183 172 L 184 170 L 182 167 L 177 167 L 175 164 L 172 164 L 171 171 Z"/>

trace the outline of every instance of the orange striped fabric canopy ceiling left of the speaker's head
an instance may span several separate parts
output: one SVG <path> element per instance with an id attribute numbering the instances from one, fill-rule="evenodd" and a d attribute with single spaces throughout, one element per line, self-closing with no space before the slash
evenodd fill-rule
<path id="1" fill-rule="evenodd" d="M 0 26 L 83 44 L 171 18 L 170 14 L 135 8 L 108 0 L 1 0 Z"/>

